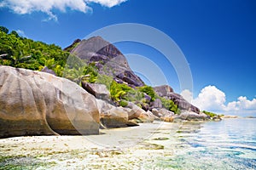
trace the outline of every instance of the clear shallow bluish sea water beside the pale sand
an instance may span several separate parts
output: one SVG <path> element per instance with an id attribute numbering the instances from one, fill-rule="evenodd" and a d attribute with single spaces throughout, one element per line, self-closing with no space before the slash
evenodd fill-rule
<path id="1" fill-rule="evenodd" d="M 186 123 L 174 135 L 173 156 L 154 169 L 256 169 L 256 119 Z"/>

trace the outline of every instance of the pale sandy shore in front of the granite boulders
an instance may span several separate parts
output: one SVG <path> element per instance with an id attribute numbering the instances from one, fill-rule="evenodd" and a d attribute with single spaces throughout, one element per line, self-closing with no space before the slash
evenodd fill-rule
<path id="1" fill-rule="evenodd" d="M 154 122 L 91 136 L 0 139 L 0 169 L 152 169 L 172 156 L 181 124 Z"/>

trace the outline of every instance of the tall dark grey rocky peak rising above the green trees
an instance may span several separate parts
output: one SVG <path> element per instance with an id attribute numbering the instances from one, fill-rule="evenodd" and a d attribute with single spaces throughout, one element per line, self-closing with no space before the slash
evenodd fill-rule
<path id="1" fill-rule="evenodd" d="M 76 48 L 73 48 L 72 54 L 87 63 L 95 63 L 100 74 L 108 75 L 120 82 L 127 82 L 131 86 L 143 86 L 144 82 L 140 77 L 131 71 L 125 56 L 110 42 L 102 37 L 91 37 L 88 40 L 82 40 Z"/>

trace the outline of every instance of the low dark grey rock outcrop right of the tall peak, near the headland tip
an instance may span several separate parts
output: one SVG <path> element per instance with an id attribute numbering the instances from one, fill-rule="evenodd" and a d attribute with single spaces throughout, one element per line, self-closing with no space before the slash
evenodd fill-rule
<path id="1" fill-rule="evenodd" d="M 197 107 L 195 107 L 195 105 L 191 105 L 187 100 L 183 99 L 183 97 L 180 94 L 174 93 L 172 88 L 169 86 L 164 85 L 160 87 L 155 87 L 154 91 L 160 97 L 172 99 L 174 104 L 176 104 L 178 108 L 181 110 L 193 111 L 198 114 L 200 113 L 200 110 Z"/>

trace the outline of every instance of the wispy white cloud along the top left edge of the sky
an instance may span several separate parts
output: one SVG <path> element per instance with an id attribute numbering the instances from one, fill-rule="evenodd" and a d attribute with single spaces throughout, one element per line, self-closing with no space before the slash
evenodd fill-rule
<path id="1" fill-rule="evenodd" d="M 83 13 L 92 11 L 90 3 L 99 3 L 102 6 L 111 8 L 127 0 L 3 0 L 0 8 L 10 8 L 16 14 L 31 14 L 40 11 L 49 15 L 49 20 L 57 20 L 57 16 L 52 13 L 52 9 L 65 12 L 66 8 L 77 10 Z"/>

